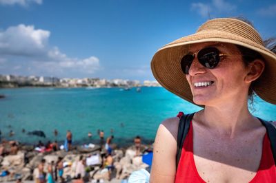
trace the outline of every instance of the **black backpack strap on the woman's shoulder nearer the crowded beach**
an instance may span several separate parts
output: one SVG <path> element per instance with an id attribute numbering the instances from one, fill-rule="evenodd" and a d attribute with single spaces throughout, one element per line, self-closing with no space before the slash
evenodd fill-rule
<path id="1" fill-rule="evenodd" d="M 184 140 L 188 134 L 190 129 L 190 121 L 193 119 L 195 113 L 186 114 L 181 116 L 178 125 L 178 133 L 177 133 L 177 157 L 176 157 L 176 166 L 178 166 L 178 162 L 180 160 L 182 147 L 184 144 Z M 177 167 L 176 167 L 177 168 Z"/>

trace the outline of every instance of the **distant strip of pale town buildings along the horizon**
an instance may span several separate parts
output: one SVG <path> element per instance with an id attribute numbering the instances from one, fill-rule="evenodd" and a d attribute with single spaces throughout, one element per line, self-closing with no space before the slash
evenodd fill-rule
<path id="1" fill-rule="evenodd" d="M 12 87 L 159 87 L 156 80 L 124 80 L 104 78 L 56 78 L 45 76 L 14 76 L 0 74 L 0 88 Z"/>

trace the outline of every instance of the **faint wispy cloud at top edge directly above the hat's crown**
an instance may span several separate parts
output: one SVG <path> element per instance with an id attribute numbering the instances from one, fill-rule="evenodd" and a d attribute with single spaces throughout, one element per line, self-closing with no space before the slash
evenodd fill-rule
<path id="1" fill-rule="evenodd" d="M 191 10 L 196 11 L 201 17 L 208 17 L 209 14 L 230 13 L 237 9 L 224 0 L 213 0 L 212 3 L 192 3 Z"/>

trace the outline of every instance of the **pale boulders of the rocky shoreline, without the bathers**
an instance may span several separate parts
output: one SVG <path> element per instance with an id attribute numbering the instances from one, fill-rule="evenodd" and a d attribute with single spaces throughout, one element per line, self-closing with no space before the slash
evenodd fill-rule
<path id="1" fill-rule="evenodd" d="M 10 153 L 1 153 L 0 155 L 0 182 L 14 182 L 17 180 L 33 181 L 34 172 L 45 160 L 43 170 L 47 173 L 50 164 L 57 164 L 61 158 L 63 162 L 63 180 L 56 182 L 74 182 L 76 180 L 76 166 L 80 157 L 85 162 L 85 175 L 83 182 L 124 182 L 128 180 L 130 173 L 139 169 L 149 169 L 149 165 L 142 161 L 143 154 L 152 151 L 152 145 L 141 145 L 141 153 L 137 155 L 135 145 L 127 148 L 117 148 L 112 144 L 112 169 L 108 175 L 105 166 L 107 151 L 99 144 L 88 144 L 86 146 L 75 146 L 70 151 L 44 151 L 39 152 L 33 146 L 17 144 L 16 153 L 12 152 L 13 144 L 10 142 L 1 143 L 0 146 L 9 149 Z M 55 166 L 54 166 L 55 169 Z M 55 170 L 52 174 L 55 175 Z M 57 175 L 57 174 L 56 174 Z M 55 177 L 55 176 L 54 176 Z"/>

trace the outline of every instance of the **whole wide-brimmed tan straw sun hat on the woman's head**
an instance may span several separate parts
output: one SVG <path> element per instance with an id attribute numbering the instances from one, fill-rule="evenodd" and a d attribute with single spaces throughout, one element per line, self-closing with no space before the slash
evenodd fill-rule
<path id="1" fill-rule="evenodd" d="M 255 81 L 253 90 L 263 100 L 276 104 L 276 55 L 264 47 L 261 36 L 251 25 L 238 19 L 209 20 L 195 34 L 161 47 L 152 58 L 152 74 L 168 91 L 193 103 L 193 95 L 180 61 L 189 51 L 190 44 L 210 41 L 242 45 L 259 52 L 266 66 L 262 76 Z"/>

